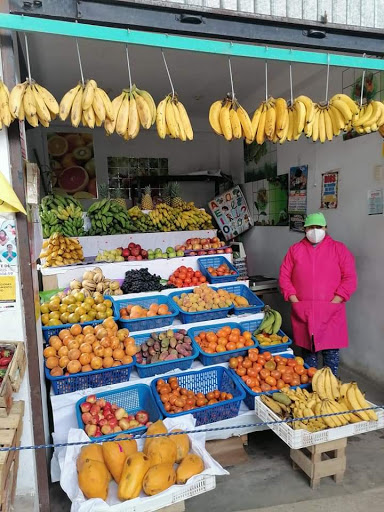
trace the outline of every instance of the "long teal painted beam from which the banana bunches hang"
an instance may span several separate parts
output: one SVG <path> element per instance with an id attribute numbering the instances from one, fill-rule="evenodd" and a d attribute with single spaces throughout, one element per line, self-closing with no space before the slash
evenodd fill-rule
<path id="1" fill-rule="evenodd" d="M 32 16 L 19 16 L 16 14 L 0 14 L 0 28 L 24 32 L 41 32 L 60 36 L 97 39 L 116 43 L 152 46 L 157 48 L 168 48 L 173 50 L 213 53 L 216 55 L 226 55 L 231 57 L 248 57 L 319 65 L 327 65 L 329 63 L 330 66 L 384 71 L 383 59 L 367 59 L 364 57 L 353 57 L 333 53 L 328 54 L 241 43 L 226 43 L 223 41 L 214 41 L 196 37 L 158 34 L 156 32 L 141 32 L 138 30 L 125 30 L 121 28 L 36 18 Z M 369 65 L 367 66 L 368 62 Z"/>

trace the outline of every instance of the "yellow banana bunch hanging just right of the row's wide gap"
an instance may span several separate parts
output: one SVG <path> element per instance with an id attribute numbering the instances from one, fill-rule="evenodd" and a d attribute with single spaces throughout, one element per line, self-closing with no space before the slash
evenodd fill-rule
<path id="1" fill-rule="evenodd" d="M 209 124 L 217 135 L 226 140 L 244 137 L 249 144 L 253 142 L 252 123 L 247 111 L 231 95 L 212 103 L 209 109 Z"/>

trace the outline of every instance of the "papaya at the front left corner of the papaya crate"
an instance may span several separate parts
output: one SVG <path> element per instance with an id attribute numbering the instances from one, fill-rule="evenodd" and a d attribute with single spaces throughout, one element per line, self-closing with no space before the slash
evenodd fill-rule
<path id="1" fill-rule="evenodd" d="M 106 500 L 110 474 L 104 462 L 85 459 L 78 473 L 79 487 L 86 498 Z"/>

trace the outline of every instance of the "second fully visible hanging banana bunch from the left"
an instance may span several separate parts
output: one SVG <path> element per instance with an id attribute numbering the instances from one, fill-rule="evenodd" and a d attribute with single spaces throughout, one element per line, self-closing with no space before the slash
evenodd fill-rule
<path id="1" fill-rule="evenodd" d="M 69 116 L 75 128 L 80 123 L 87 128 L 94 128 L 114 121 L 112 102 L 95 80 L 88 80 L 85 85 L 78 83 L 64 94 L 60 102 L 59 117 L 65 121 Z"/>

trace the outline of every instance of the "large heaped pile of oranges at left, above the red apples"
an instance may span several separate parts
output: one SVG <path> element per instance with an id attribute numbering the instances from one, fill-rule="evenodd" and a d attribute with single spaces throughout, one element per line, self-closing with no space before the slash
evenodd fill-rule
<path id="1" fill-rule="evenodd" d="M 119 329 L 113 318 L 95 327 L 74 324 L 49 338 L 45 365 L 53 377 L 130 364 L 137 348 L 128 329 Z"/>

